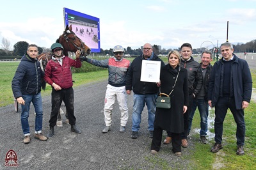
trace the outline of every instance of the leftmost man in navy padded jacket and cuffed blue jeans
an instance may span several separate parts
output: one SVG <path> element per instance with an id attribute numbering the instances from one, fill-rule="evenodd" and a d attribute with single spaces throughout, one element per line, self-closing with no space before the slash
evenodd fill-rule
<path id="1" fill-rule="evenodd" d="M 38 47 L 35 44 L 28 45 L 27 53 L 22 57 L 20 64 L 12 80 L 12 91 L 17 102 L 21 104 L 21 126 L 24 134 L 24 144 L 30 143 L 29 132 L 29 109 L 32 102 L 35 107 L 35 139 L 47 141 L 47 137 L 42 135 L 43 109 L 41 97 L 41 79 L 44 72 L 41 70 L 37 60 Z"/>

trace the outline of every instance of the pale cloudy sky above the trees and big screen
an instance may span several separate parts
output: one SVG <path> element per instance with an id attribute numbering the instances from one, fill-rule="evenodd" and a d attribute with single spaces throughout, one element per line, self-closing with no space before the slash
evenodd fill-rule
<path id="1" fill-rule="evenodd" d="M 1 3 L 0 44 L 6 38 L 12 49 L 19 41 L 50 48 L 65 30 L 63 8 L 100 19 L 104 50 L 186 42 L 210 48 L 226 42 L 227 31 L 230 43 L 256 39 L 256 0 L 17 0 Z"/>

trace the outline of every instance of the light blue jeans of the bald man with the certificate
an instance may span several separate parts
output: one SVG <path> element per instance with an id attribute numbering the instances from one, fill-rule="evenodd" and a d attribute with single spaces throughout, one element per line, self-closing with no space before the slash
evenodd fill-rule
<path id="1" fill-rule="evenodd" d="M 148 109 L 148 130 L 154 130 L 156 98 L 157 94 L 133 95 L 132 131 L 138 132 L 140 130 L 141 112 L 145 103 Z"/>

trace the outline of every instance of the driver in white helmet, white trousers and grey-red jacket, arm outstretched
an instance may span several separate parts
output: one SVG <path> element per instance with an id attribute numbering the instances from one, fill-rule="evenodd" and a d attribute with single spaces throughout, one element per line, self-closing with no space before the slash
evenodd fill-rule
<path id="1" fill-rule="evenodd" d="M 108 58 L 101 61 L 83 58 L 84 61 L 92 65 L 108 68 L 108 86 L 104 104 L 104 120 L 106 127 L 102 130 L 102 133 L 107 133 L 109 130 L 111 130 L 111 113 L 115 100 L 117 100 L 121 111 L 120 132 L 125 132 L 125 125 L 129 116 L 127 96 L 125 92 L 125 81 L 130 61 L 123 58 L 124 48 L 121 45 L 116 45 L 113 48 L 113 53 L 115 58 Z"/>

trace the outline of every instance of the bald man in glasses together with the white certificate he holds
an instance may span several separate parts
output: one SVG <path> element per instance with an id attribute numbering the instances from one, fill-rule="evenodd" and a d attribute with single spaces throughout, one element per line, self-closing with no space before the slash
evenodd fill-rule
<path id="1" fill-rule="evenodd" d="M 157 84 L 159 85 L 160 80 L 160 67 L 164 66 L 164 62 L 154 54 L 150 43 L 145 43 L 142 50 L 143 53 L 135 58 L 129 67 L 125 86 L 126 93 L 128 95 L 131 95 L 131 90 L 134 93 L 132 139 L 136 139 L 138 137 L 141 112 L 143 111 L 145 104 L 148 109 L 149 137 L 153 137 L 156 98 L 159 91 Z"/>

